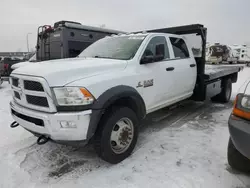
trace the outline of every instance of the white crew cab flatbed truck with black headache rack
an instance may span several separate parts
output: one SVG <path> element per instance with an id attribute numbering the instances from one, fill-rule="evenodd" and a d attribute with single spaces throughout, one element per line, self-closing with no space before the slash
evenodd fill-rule
<path id="1" fill-rule="evenodd" d="M 175 34 L 171 34 L 175 33 Z M 194 57 L 182 34 L 202 38 Z M 77 58 L 34 63 L 11 74 L 14 122 L 37 143 L 88 143 L 110 163 L 128 157 L 140 121 L 185 99 L 227 102 L 239 67 L 205 72 L 206 28 L 190 25 L 105 37 Z"/>

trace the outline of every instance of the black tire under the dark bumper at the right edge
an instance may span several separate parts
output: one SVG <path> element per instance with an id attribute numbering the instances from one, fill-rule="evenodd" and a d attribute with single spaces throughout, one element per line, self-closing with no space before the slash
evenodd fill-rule
<path id="1" fill-rule="evenodd" d="M 228 164 L 236 170 L 242 172 L 250 172 L 250 160 L 242 155 L 234 146 L 231 138 L 228 142 L 227 148 Z"/>

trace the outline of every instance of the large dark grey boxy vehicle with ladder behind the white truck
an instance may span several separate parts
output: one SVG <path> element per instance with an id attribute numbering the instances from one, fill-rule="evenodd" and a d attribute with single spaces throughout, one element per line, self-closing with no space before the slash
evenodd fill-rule
<path id="1" fill-rule="evenodd" d="M 86 26 L 72 21 L 59 21 L 53 27 L 40 26 L 37 36 L 36 59 L 45 61 L 76 57 L 95 41 L 119 33 L 124 32 Z"/>

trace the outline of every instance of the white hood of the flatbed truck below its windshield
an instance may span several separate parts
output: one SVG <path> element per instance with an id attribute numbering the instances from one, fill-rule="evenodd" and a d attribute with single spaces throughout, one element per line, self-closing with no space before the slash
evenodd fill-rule
<path id="1" fill-rule="evenodd" d="M 20 67 L 12 74 L 43 77 L 51 87 L 99 74 L 123 70 L 127 61 L 101 58 L 72 58 L 32 63 Z"/>

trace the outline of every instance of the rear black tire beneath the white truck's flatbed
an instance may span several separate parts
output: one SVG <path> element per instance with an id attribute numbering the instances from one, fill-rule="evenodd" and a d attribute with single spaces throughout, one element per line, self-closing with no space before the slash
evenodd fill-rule
<path id="1" fill-rule="evenodd" d="M 222 90 L 221 93 L 212 97 L 213 102 L 227 103 L 232 94 L 232 81 L 230 78 L 222 81 Z"/>

